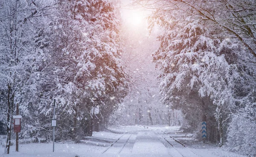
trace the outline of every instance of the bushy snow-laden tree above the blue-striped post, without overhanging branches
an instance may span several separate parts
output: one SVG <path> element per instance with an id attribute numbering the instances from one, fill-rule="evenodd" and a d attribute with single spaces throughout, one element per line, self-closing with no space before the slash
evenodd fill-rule
<path id="1" fill-rule="evenodd" d="M 214 129 L 215 113 L 222 135 L 223 119 L 227 118 L 224 112 L 233 104 L 236 66 L 229 65 L 221 55 L 221 40 L 210 38 L 213 28 L 204 27 L 191 16 L 177 14 L 156 12 L 151 19 L 165 32 L 159 36 L 161 45 L 154 53 L 157 66 L 163 71 L 159 76 L 163 101 L 182 109 L 195 127 L 207 116 L 208 126 L 213 125 Z M 212 137 L 211 133 L 208 135 L 215 140 L 214 133 Z"/>

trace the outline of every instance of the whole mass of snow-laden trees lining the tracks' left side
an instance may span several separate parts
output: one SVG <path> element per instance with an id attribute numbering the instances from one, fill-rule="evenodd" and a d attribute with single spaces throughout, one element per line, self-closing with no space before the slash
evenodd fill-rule
<path id="1" fill-rule="evenodd" d="M 12 8 L 9 3 L 5 0 L 6 8 Z M 122 50 L 118 1 L 13 3 L 20 5 L 14 11 L 21 21 L 11 27 L 17 28 L 11 31 L 13 37 L 9 41 L 13 43 L 0 43 L 0 82 L 6 82 L 0 87 L 0 96 L 3 104 L 7 103 L 8 93 L 4 91 L 8 90 L 8 82 L 12 83 L 10 93 L 17 93 L 12 106 L 20 103 L 26 121 L 21 136 L 41 139 L 47 135 L 44 140 L 50 140 L 47 119 L 52 117 L 53 99 L 56 99 L 56 118 L 61 119 L 57 136 L 77 139 L 81 134 L 91 134 L 92 129 L 84 129 L 89 120 L 93 121 L 91 108 L 99 106 L 102 117 L 106 118 L 127 94 L 128 74 L 119 59 Z M 4 11 L 0 9 L 1 18 L 10 15 Z M 4 28 L 0 40 L 8 41 L 10 34 L 6 32 L 10 31 L 4 31 L 9 29 L 8 22 L 0 20 L 0 26 Z M 102 119 L 100 123 L 105 121 Z M 77 130 L 79 125 L 83 126 L 81 132 Z"/>

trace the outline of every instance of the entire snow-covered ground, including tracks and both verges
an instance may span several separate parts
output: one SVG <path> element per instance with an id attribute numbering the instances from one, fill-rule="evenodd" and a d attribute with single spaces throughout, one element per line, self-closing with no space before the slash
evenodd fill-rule
<path id="1" fill-rule="evenodd" d="M 211 144 L 204 144 L 185 134 L 179 126 L 118 126 L 94 132 L 81 143 L 20 144 L 19 152 L 11 146 L 10 154 L 0 157 L 243 157 Z"/>

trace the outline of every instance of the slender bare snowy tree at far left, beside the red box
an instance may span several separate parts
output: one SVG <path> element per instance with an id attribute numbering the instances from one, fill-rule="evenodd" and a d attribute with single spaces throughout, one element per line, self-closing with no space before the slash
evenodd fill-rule
<path id="1" fill-rule="evenodd" d="M 6 123 L 6 152 L 9 153 L 15 105 L 26 101 L 23 93 L 29 90 L 27 82 L 38 68 L 34 22 L 36 17 L 49 13 L 51 5 L 26 0 L 0 3 L 0 120 Z"/>

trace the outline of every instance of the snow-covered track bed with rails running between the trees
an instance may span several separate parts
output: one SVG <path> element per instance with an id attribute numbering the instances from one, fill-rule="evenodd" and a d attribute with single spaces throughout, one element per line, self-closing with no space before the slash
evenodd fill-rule
<path id="1" fill-rule="evenodd" d="M 200 157 L 160 130 L 125 133 L 100 157 Z"/>

